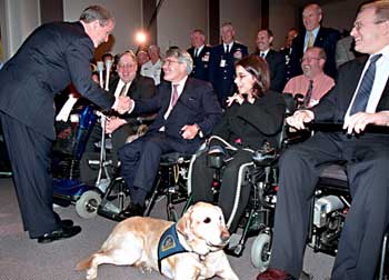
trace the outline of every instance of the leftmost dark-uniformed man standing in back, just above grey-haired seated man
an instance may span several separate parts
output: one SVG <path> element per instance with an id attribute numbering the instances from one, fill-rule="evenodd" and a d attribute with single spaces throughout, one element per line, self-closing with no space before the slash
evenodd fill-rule
<path id="1" fill-rule="evenodd" d="M 193 59 L 193 70 L 189 77 L 208 81 L 209 57 L 211 48 L 206 46 L 206 34 L 202 30 L 196 29 L 190 36 L 192 48 L 188 49 Z"/>

